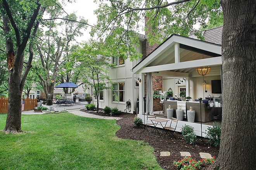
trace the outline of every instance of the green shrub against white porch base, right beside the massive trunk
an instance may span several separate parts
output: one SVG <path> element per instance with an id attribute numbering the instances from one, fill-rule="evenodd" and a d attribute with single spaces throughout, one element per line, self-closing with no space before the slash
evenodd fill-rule
<path id="1" fill-rule="evenodd" d="M 209 138 L 207 143 L 213 146 L 220 146 L 221 126 L 215 122 L 213 127 L 208 127 L 205 131 L 205 138 Z"/>

